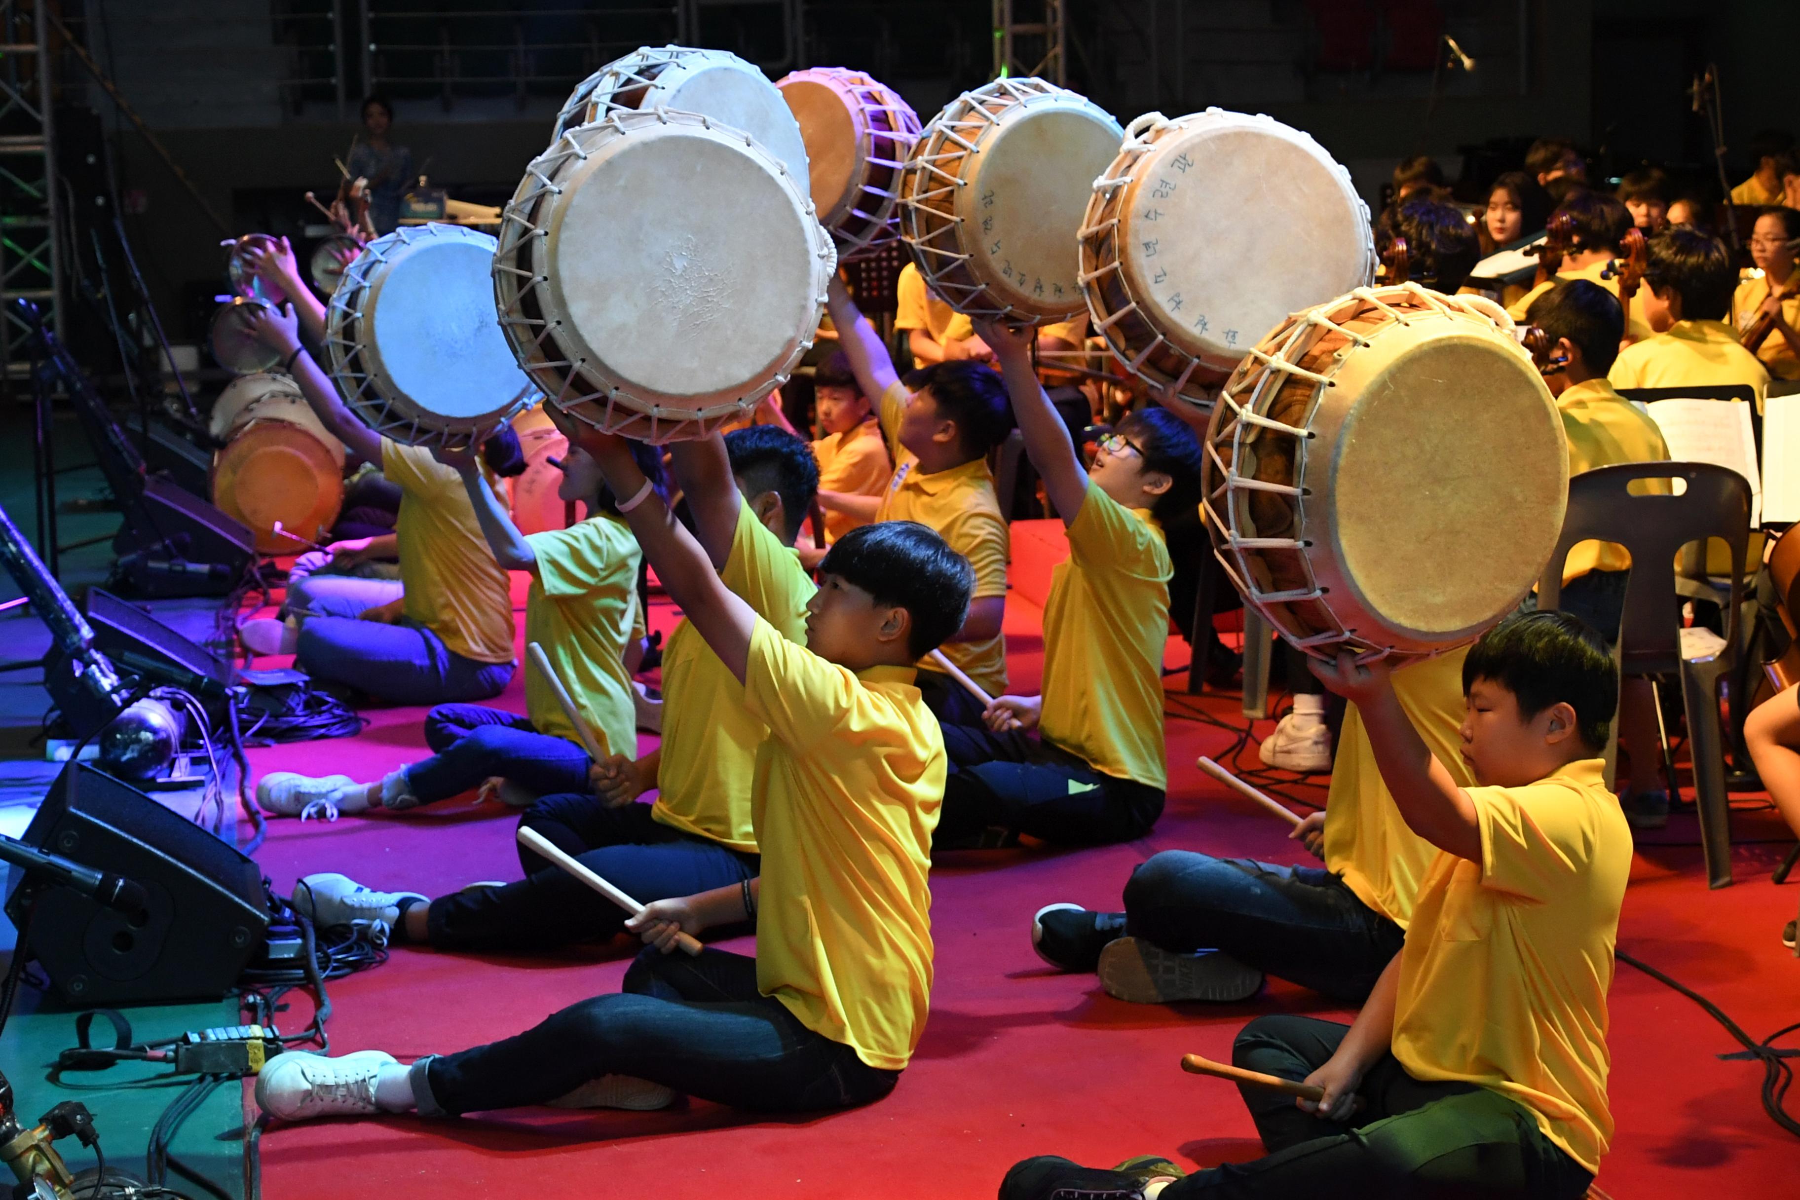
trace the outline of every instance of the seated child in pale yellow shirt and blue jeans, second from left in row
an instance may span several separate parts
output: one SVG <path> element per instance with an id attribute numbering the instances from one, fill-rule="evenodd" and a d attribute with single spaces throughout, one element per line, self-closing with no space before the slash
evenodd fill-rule
<path id="1" fill-rule="evenodd" d="M 569 417 L 560 417 L 569 423 Z M 565 430 L 567 432 L 567 430 Z M 619 520 L 599 468 L 578 446 L 563 457 L 563 500 L 587 500 L 592 516 L 569 527 L 524 536 L 468 452 L 437 452 L 463 488 L 497 561 L 531 572 L 526 640 L 544 646 L 571 698 L 607 754 L 637 757 L 626 640 L 637 610 L 637 542 Z M 661 482 L 662 462 L 644 448 L 643 470 Z M 432 757 L 373 783 L 349 775 L 265 775 L 257 802 L 284 817 L 367 810 L 398 811 L 461 795 L 490 777 L 506 781 L 502 799 L 529 804 L 538 795 L 587 790 L 589 757 L 549 684 L 526 675 L 526 712 L 473 703 L 445 703 L 425 718 Z"/>

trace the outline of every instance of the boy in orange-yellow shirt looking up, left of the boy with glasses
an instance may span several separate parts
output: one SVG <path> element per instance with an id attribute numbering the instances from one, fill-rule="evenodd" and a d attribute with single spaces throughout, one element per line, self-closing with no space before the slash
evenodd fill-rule
<path id="1" fill-rule="evenodd" d="M 1006 691 L 1006 560 L 1010 533 L 994 495 L 988 452 L 1008 434 L 1006 387 L 981 363 L 945 362 L 907 376 L 895 372 L 880 336 L 857 311 L 842 279 L 826 291 L 832 324 L 864 396 L 880 398 L 880 421 L 895 473 L 880 500 L 821 497 L 859 520 L 913 520 L 938 531 L 976 570 L 968 621 L 943 655 L 990 696 Z M 931 658 L 920 664 L 920 691 L 941 720 L 979 725 L 981 703 Z"/>

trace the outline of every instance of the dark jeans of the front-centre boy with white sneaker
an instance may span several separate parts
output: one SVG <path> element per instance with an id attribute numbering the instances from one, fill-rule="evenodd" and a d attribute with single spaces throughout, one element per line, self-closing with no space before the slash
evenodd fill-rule
<path id="1" fill-rule="evenodd" d="M 542 1105 L 605 1074 L 760 1112 L 868 1105 L 900 1079 L 758 995 L 756 959 L 644 948 L 623 993 L 571 1004 L 504 1042 L 421 1058 L 412 1094 L 425 1115 L 488 1112 Z"/>

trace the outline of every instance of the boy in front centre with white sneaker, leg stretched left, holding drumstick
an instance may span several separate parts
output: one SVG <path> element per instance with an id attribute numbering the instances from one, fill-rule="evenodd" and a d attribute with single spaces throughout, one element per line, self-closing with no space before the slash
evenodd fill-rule
<path id="1" fill-rule="evenodd" d="M 650 905 L 628 921 L 652 946 L 621 995 L 513 1038 L 410 1067 L 382 1051 L 279 1054 L 256 1088 L 274 1117 L 652 1108 L 675 1092 L 761 1112 L 846 1108 L 891 1092 L 918 1045 L 945 757 L 911 664 L 961 624 L 968 563 L 918 524 L 853 529 L 821 563 L 803 648 L 725 588 L 616 437 L 583 444 L 626 497 L 657 578 L 769 727 L 752 795 L 761 876 Z M 745 919 L 754 959 L 666 954 L 680 932 Z"/>

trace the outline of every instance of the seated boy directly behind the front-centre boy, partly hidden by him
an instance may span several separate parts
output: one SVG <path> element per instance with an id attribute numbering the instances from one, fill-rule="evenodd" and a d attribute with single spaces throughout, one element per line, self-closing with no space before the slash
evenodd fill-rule
<path id="1" fill-rule="evenodd" d="M 725 587 L 801 642 L 815 588 L 792 545 L 817 482 L 812 453 L 767 425 L 727 434 L 724 446 L 729 462 L 716 437 L 675 444 L 675 477 L 700 542 L 724 561 Z M 745 707 L 743 685 L 686 619 L 662 655 L 662 696 L 661 747 L 637 761 L 614 754 L 592 772 L 594 788 L 583 779 L 518 820 L 646 903 L 756 878 L 751 781 L 769 736 Z M 655 804 L 632 802 L 644 792 L 657 793 Z M 437 950 L 540 950 L 607 941 L 625 927 L 625 912 L 536 853 L 520 846 L 518 862 L 520 880 L 428 903 L 342 874 L 306 876 L 295 901 L 322 927 L 385 921 L 394 941 Z"/>

